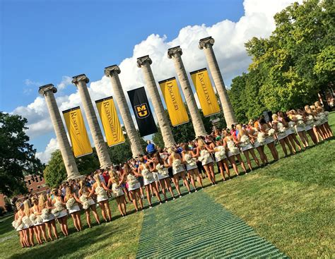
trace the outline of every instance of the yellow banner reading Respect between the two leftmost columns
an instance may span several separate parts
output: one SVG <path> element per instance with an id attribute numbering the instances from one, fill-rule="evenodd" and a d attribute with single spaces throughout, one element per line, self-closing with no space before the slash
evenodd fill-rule
<path id="1" fill-rule="evenodd" d="M 81 157 L 93 152 L 88 139 L 81 108 L 76 107 L 63 112 L 67 131 L 70 135 L 72 150 L 75 157 Z"/>

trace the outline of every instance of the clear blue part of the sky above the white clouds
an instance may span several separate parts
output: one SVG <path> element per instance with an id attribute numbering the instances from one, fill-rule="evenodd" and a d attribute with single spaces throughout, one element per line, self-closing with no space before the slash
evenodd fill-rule
<path id="1" fill-rule="evenodd" d="M 242 1 L 1 1 L 1 104 L 11 112 L 37 95 L 37 85 L 88 73 L 131 56 L 156 33 L 242 16 Z M 25 85 L 25 80 L 30 80 Z M 74 88 L 68 88 L 74 92 Z"/>

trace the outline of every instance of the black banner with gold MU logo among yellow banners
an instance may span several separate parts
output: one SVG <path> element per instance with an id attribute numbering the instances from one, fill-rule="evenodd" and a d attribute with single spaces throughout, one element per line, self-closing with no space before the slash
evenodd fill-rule
<path id="1" fill-rule="evenodd" d="M 141 137 L 157 132 L 153 114 L 151 112 L 148 98 L 146 97 L 146 90 L 144 88 L 137 88 L 128 91 L 128 96 L 131 102 L 131 107 L 136 117 L 137 126 Z"/>

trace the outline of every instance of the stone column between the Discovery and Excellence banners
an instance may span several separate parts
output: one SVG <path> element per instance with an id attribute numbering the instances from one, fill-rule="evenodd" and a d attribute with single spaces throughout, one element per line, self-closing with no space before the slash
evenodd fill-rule
<path id="1" fill-rule="evenodd" d="M 194 98 L 191 85 L 189 84 L 189 78 L 187 78 L 187 73 L 182 63 L 182 49 L 180 46 L 173 47 L 167 50 L 167 57 L 172 59 L 175 63 L 175 69 L 177 72 L 180 85 L 182 86 L 182 92 L 184 94 L 187 107 L 189 107 L 189 114 L 191 115 L 192 124 L 194 128 L 194 133 L 196 137 L 201 135 L 207 135 L 204 123 L 201 120 L 201 115 L 199 109 L 196 106 L 196 100 Z"/>

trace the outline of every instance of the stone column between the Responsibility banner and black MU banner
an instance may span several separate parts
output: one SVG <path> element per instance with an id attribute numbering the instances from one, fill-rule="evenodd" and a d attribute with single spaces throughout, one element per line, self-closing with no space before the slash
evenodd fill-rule
<path id="1" fill-rule="evenodd" d="M 124 96 L 122 85 L 119 80 L 119 73 L 121 73 L 121 71 L 117 65 L 108 66 L 105 68 L 105 76 L 110 78 L 115 97 L 114 100 L 117 102 L 117 107 L 119 107 L 124 128 L 126 128 L 127 131 L 127 135 L 130 141 L 131 153 L 133 154 L 133 157 L 136 157 L 138 155 L 143 155 L 141 140 L 139 138 L 139 133 L 136 131 L 134 121 L 131 119 L 127 100 Z"/>

